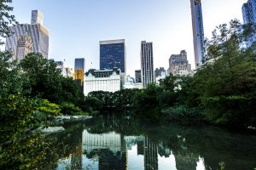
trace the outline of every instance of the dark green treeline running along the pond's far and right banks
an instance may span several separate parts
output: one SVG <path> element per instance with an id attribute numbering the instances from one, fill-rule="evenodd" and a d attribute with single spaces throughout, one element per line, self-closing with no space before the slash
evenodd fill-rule
<path id="1" fill-rule="evenodd" d="M 166 77 L 160 85 L 115 93 L 92 92 L 87 104 L 94 110 L 132 108 L 149 120 L 211 122 L 230 127 L 255 127 L 255 44 L 244 48 L 255 26 L 237 20 L 220 25 L 207 40 L 207 62 L 194 76 Z"/>

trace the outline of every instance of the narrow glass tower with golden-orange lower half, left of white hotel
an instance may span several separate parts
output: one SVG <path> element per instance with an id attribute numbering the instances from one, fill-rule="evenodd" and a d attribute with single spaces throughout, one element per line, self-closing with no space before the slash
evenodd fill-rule
<path id="1" fill-rule="evenodd" d="M 84 69 L 85 60 L 84 58 L 75 59 L 74 66 L 74 79 L 78 82 L 80 90 L 84 92 Z"/>

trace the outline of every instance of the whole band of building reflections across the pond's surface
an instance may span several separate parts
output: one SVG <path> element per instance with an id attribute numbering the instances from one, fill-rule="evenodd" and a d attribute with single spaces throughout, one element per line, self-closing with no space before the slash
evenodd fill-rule
<path id="1" fill-rule="evenodd" d="M 173 140 L 175 139 L 175 140 Z M 159 156 L 176 161 L 177 170 L 196 170 L 199 156 L 189 152 L 185 138 L 177 135 L 171 143 L 154 143 L 148 137 L 124 136 L 119 133 L 89 133 L 84 130 L 76 144 L 73 153 L 66 159 L 66 167 L 70 169 L 99 169 L 99 170 L 127 170 L 128 151 L 137 145 L 137 156 L 143 156 L 145 170 L 159 169 Z M 94 160 L 94 161 L 88 161 Z M 62 161 L 63 164 L 64 161 Z M 97 165 L 90 165 L 95 163 Z M 65 166 L 64 166 L 65 167 Z M 63 169 L 59 164 L 59 168 Z"/>

